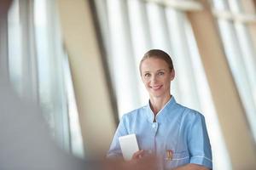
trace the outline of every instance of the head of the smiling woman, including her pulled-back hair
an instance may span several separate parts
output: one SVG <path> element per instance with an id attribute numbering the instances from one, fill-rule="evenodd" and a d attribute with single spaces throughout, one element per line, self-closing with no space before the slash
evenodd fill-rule
<path id="1" fill-rule="evenodd" d="M 175 71 L 172 59 L 168 54 L 161 50 L 148 51 L 140 63 L 140 72 L 151 99 L 160 97 L 170 99 L 170 86 Z M 165 94 L 167 96 L 163 96 Z M 158 111 L 154 112 L 157 113 Z"/>

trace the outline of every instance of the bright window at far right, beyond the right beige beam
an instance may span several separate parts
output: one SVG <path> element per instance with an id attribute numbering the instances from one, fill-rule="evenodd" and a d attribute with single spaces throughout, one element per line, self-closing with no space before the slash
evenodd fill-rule
<path id="1" fill-rule="evenodd" d="M 247 28 L 251 21 L 250 15 L 244 12 L 241 1 L 214 0 L 213 4 L 224 52 L 256 142 L 256 59 Z"/>

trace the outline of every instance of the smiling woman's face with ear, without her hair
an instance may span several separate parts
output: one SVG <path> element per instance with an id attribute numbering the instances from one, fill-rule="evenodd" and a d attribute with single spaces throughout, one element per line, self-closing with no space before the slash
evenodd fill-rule
<path id="1" fill-rule="evenodd" d="M 150 97 L 165 97 L 170 95 L 171 81 L 174 78 L 174 70 L 165 60 L 148 58 L 141 65 L 141 77 Z"/>

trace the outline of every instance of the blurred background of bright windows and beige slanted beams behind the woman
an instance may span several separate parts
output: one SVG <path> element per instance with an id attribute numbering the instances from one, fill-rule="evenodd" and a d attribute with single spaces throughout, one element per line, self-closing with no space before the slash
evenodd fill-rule
<path id="1" fill-rule="evenodd" d="M 214 169 L 256 169 L 255 8 L 255 0 L 0 0 L 0 77 L 40 105 L 63 150 L 104 156 L 119 118 L 147 104 L 138 65 L 160 48 L 174 62 L 172 95 L 206 117 Z"/>

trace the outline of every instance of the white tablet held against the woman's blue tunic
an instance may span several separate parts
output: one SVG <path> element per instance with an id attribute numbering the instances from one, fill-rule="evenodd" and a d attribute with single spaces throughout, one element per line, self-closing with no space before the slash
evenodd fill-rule
<path id="1" fill-rule="evenodd" d="M 125 161 L 131 160 L 133 154 L 139 150 L 136 134 L 119 137 L 119 144 Z"/>

